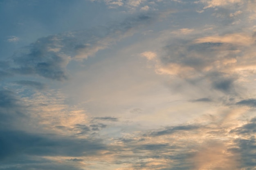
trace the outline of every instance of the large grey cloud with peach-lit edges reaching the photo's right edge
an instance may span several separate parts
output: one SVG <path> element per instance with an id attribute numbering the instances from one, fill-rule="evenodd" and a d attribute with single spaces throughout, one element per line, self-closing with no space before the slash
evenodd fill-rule
<path id="1" fill-rule="evenodd" d="M 157 56 L 150 58 L 155 62 L 157 74 L 171 75 L 206 91 L 243 93 L 240 82 L 250 81 L 246 77 L 252 76 L 255 68 L 252 33 L 205 36 L 195 31 L 191 35 L 178 33 L 171 37 L 173 40 L 169 38 Z"/>

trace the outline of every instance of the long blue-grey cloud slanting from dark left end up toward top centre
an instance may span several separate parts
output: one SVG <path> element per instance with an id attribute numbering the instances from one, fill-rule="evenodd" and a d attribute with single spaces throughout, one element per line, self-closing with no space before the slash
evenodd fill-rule
<path id="1" fill-rule="evenodd" d="M 80 30 L 39 38 L 13 55 L 16 65 L 10 70 L 16 74 L 40 75 L 62 81 L 68 79 L 67 64 L 77 55 L 80 59 L 106 49 L 124 38 L 133 28 L 148 24 L 151 16 L 139 15 L 123 22 L 92 30 Z"/>

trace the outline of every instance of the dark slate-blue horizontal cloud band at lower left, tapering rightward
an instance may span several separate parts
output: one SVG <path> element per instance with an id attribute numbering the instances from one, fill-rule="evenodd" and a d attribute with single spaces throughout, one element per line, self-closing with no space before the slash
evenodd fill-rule
<path id="1" fill-rule="evenodd" d="M 33 134 L 24 131 L 0 131 L 0 160 L 16 155 L 69 156 L 95 155 L 106 149 L 100 141 L 61 137 L 54 134 Z"/>

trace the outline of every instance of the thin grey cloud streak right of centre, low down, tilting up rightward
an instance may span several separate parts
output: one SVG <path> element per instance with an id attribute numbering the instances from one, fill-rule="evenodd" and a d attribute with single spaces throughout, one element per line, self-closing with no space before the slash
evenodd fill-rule
<path id="1" fill-rule="evenodd" d="M 193 126 L 193 125 L 186 125 L 186 126 L 173 126 L 173 127 L 168 127 L 165 130 L 161 131 L 155 131 L 151 132 L 151 136 L 162 136 L 162 135 L 170 135 L 175 132 L 180 132 L 180 131 L 190 131 L 190 130 L 195 130 L 198 129 L 198 126 Z"/>

